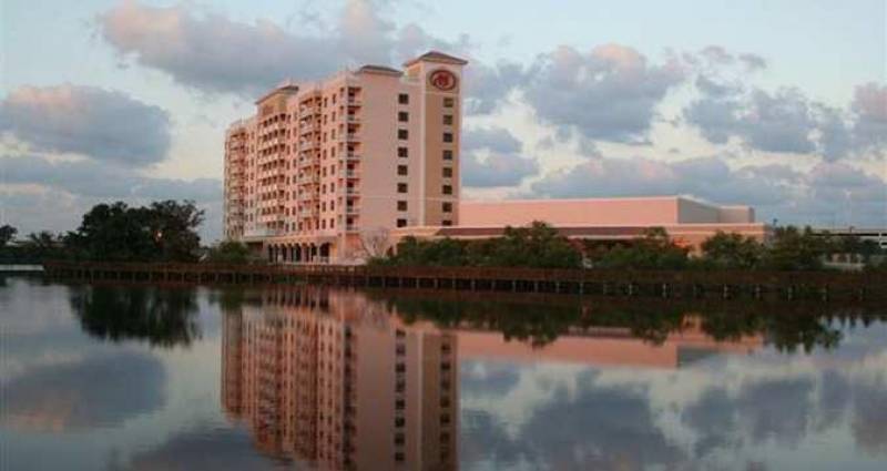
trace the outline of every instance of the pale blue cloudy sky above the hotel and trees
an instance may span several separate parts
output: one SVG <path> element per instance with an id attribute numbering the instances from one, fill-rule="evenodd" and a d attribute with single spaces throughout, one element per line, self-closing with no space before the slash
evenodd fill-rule
<path id="1" fill-rule="evenodd" d="M 430 49 L 470 61 L 463 198 L 887 227 L 885 0 L 4 0 L 0 224 L 188 198 L 217 239 L 224 132 L 255 98 Z"/>

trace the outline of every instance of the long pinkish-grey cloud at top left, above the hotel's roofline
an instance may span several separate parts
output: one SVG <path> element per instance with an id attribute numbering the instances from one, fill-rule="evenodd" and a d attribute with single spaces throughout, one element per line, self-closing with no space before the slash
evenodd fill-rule
<path id="1" fill-rule="evenodd" d="M 344 27 L 371 24 L 367 13 L 346 9 Z M 186 4 L 149 7 L 124 1 L 101 14 L 98 25 L 102 38 L 123 57 L 161 70 L 185 86 L 249 95 L 289 76 L 317 79 L 330 73 L 347 59 L 347 51 L 337 45 L 357 45 L 355 52 L 370 55 L 377 45 L 376 41 L 337 44 L 297 35 L 265 20 L 247 24 L 214 13 L 197 16 Z"/>

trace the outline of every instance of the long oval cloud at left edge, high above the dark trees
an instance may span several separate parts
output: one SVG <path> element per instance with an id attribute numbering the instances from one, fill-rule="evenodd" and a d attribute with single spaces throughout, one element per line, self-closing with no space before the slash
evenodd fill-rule
<path id="1" fill-rule="evenodd" d="M 74 153 L 126 165 L 162 161 L 170 116 L 159 106 L 94 86 L 22 86 L 0 102 L 0 132 L 42 152 Z"/>

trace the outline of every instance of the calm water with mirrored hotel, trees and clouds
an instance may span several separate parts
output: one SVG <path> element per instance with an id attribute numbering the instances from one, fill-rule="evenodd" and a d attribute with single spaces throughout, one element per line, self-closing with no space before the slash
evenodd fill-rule
<path id="1" fill-rule="evenodd" d="M 6 278 L 0 468 L 887 469 L 884 309 L 527 299 Z"/>

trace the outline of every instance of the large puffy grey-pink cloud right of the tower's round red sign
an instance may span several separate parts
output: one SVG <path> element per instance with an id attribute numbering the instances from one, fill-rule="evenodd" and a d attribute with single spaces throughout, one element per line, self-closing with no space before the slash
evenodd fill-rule
<path id="1" fill-rule="evenodd" d="M 656 106 L 684 75 L 677 62 L 651 65 L 625 45 L 588 53 L 560 47 L 534 62 L 524 94 L 546 123 L 589 139 L 636 143 L 648 139 Z"/>

